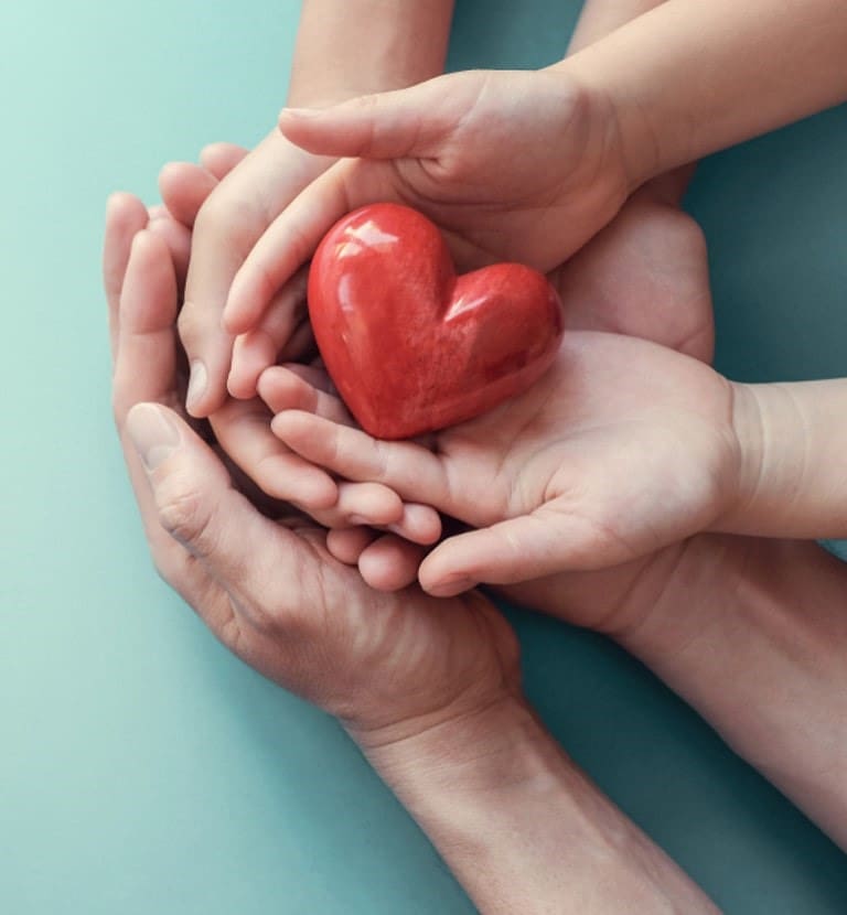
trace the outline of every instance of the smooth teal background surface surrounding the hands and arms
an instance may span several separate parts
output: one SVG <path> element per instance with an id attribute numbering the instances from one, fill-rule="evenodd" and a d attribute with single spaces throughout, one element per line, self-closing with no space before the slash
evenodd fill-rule
<path id="1" fill-rule="evenodd" d="M 577 4 L 460 0 L 453 67 L 560 55 Z M 109 410 L 103 206 L 253 144 L 298 4 L 0 8 L 0 911 L 473 908 L 335 724 L 230 657 L 156 577 Z M 719 365 L 845 372 L 847 109 L 705 162 Z M 527 688 L 597 782 L 730 913 L 847 911 L 847 859 L 637 664 L 514 614 Z"/>

